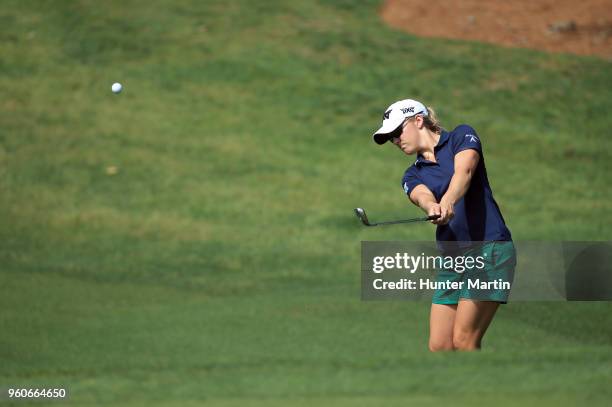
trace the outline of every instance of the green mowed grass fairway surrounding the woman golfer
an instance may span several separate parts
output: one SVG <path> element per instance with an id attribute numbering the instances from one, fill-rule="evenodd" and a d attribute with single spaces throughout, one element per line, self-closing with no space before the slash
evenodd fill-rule
<path id="1" fill-rule="evenodd" d="M 411 159 L 370 139 L 413 97 L 479 131 L 516 240 L 612 240 L 610 61 L 416 38 L 378 7 L 2 2 L 0 387 L 609 405 L 610 303 L 512 303 L 482 352 L 430 354 L 429 304 L 362 302 L 359 273 L 362 240 L 433 226 L 364 228 L 352 209 L 420 215 Z"/>

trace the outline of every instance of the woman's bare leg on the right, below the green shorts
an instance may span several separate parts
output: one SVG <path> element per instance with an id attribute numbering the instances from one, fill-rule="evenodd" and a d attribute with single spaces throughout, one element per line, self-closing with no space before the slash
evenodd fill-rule
<path id="1" fill-rule="evenodd" d="M 453 328 L 453 347 L 457 350 L 480 349 L 480 343 L 495 312 L 494 301 L 459 300 Z"/>

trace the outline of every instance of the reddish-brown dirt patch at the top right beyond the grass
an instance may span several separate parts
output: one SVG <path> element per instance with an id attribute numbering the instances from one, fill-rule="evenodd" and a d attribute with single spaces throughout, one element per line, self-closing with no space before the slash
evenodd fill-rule
<path id="1" fill-rule="evenodd" d="M 612 0 L 387 0 L 381 16 L 425 37 L 612 60 Z"/>

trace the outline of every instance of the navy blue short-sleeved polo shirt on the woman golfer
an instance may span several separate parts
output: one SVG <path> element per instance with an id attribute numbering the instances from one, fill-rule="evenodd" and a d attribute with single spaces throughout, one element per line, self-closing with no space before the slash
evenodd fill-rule
<path id="1" fill-rule="evenodd" d="M 512 240 L 510 230 L 493 199 L 493 191 L 487 178 L 482 145 L 476 131 L 466 125 L 457 126 L 453 131 L 442 131 L 440 140 L 434 148 L 437 162 L 427 161 L 418 155 L 415 163 L 404 173 L 402 186 L 410 192 L 419 184 L 433 192 L 436 200 L 446 193 L 455 172 L 455 154 L 473 149 L 480 154 L 476 171 L 472 176 L 466 194 L 455 203 L 455 217 L 446 225 L 438 225 L 436 240 L 476 242 Z"/>

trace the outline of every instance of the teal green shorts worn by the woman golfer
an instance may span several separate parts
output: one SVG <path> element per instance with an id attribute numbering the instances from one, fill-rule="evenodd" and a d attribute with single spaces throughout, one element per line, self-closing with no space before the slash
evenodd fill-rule
<path id="1" fill-rule="evenodd" d="M 452 257 L 452 268 L 445 264 L 436 272 L 434 304 L 458 304 L 462 298 L 508 302 L 516 268 L 512 242 L 482 242 Z"/>

